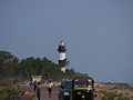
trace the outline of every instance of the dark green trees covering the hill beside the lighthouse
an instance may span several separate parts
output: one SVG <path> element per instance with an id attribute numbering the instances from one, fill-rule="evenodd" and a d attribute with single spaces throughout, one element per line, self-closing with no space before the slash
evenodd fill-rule
<path id="1" fill-rule="evenodd" d="M 0 78 L 30 80 L 31 76 L 42 76 L 44 80 L 61 80 L 62 78 L 71 78 L 75 74 L 74 69 L 68 69 L 65 73 L 60 67 L 48 58 L 29 57 L 19 60 L 11 52 L 0 51 Z"/>

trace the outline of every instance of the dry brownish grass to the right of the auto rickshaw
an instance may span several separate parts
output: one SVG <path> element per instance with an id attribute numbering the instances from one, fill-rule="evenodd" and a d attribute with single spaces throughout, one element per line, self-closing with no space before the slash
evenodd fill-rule
<path id="1" fill-rule="evenodd" d="M 124 84 L 105 84 L 95 86 L 95 100 L 133 100 L 133 89 Z"/>

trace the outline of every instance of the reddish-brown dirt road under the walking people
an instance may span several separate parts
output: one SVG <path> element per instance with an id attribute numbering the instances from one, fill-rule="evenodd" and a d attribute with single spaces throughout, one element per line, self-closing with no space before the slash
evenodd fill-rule
<path id="1" fill-rule="evenodd" d="M 32 100 L 38 100 L 37 97 Z M 41 88 L 41 100 L 58 100 L 58 90 L 52 90 L 52 97 L 49 98 L 48 91 L 44 88 Z"/>

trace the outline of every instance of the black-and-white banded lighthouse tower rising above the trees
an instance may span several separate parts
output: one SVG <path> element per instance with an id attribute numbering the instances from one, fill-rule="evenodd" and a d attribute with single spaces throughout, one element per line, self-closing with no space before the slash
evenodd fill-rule
<path id="1" fill-rule="evenodd" d="M 59 67 L 61 67 L 61 71 L 65 72 L 65 66 L 66 66 L 66 48 L 65 48 L 65 43 L 63 41 L 61 41 L 59 43 Z"/>

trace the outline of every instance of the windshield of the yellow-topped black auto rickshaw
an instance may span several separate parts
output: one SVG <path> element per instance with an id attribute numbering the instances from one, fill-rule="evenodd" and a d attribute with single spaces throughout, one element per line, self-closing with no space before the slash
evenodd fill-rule
<path id="1" fill-rule="evenodd" d="M 89 80 L 75 80 L 74 87 L 88 87 L 91 86 L 91 82 Z"/>

